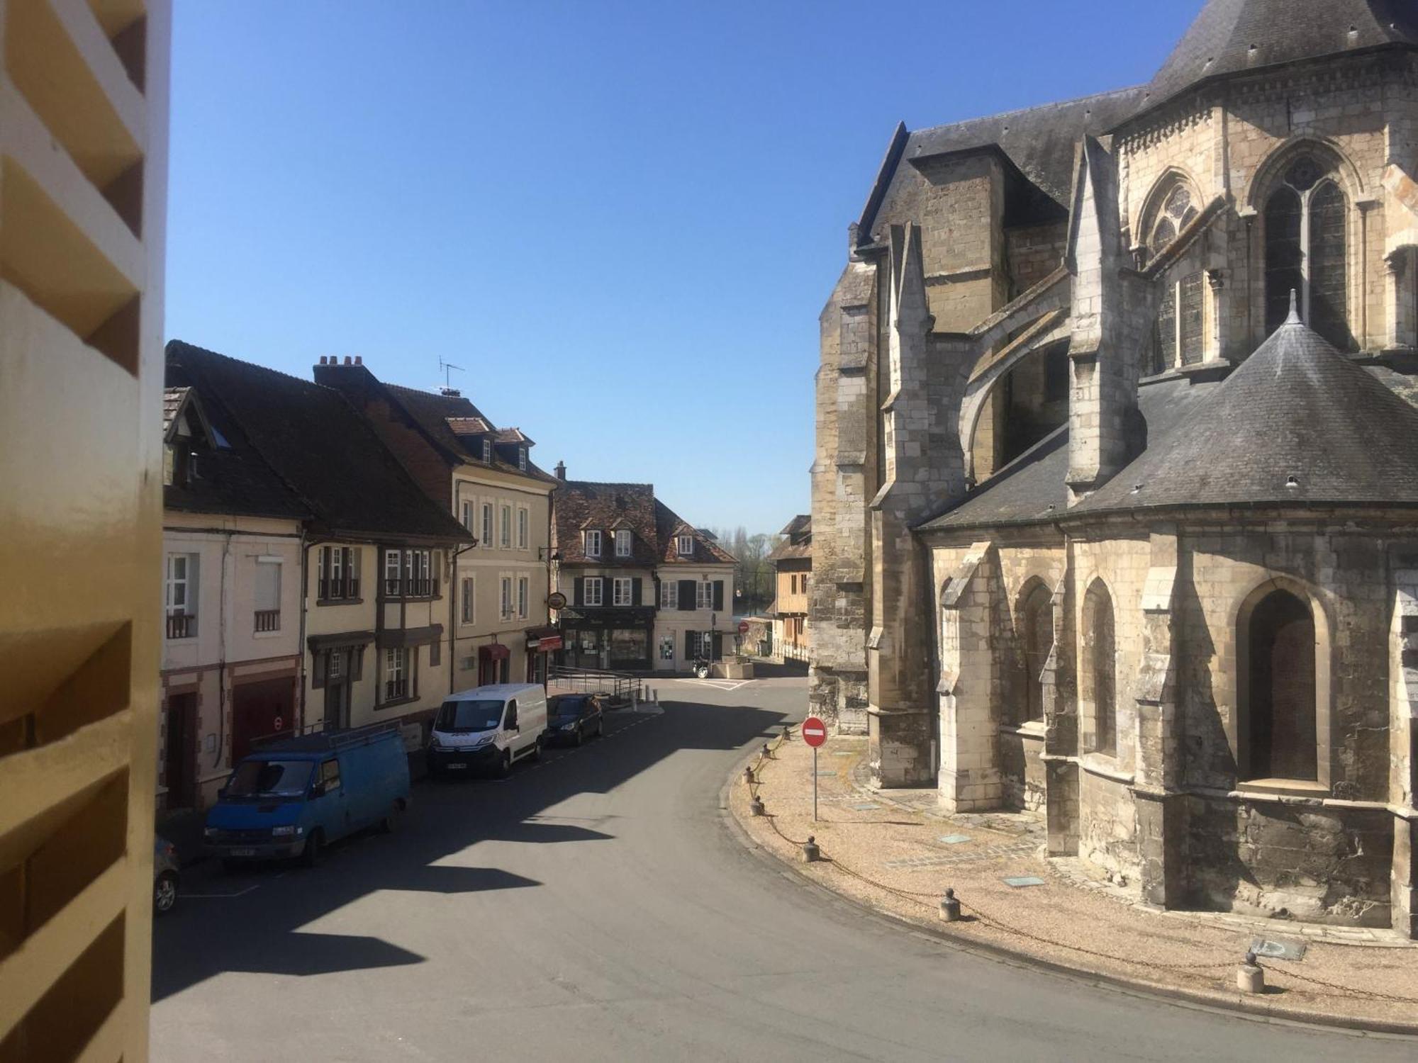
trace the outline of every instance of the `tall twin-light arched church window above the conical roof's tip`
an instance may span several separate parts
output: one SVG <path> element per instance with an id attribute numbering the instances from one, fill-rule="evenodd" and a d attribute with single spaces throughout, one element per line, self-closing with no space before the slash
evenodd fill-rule
<path id="1" fill-rule="evenodd" d="M 1290 163 L 1265 203 L 1265 327 L 1275 332 L 1290 313 L 1336 347 L 1353 346 L 1344 193 L 1329 167 L 1303 154 Z"/>

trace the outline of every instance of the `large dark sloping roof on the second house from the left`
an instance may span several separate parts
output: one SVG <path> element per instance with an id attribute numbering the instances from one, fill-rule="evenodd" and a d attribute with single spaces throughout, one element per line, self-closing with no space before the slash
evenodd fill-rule
<path id="1" fill-rule="evenodd" d="M 384 448 L 364 418 L 332 388 L 180 340 L 167 344 L 167 383 L 194 387 L 213 425 L 255 486 L 318 529 L 387 539 L 468 541 Z M 220 478 L 213 476 L 216 482 Z M 166 500 L 166 496 L 164 496 Z"/>

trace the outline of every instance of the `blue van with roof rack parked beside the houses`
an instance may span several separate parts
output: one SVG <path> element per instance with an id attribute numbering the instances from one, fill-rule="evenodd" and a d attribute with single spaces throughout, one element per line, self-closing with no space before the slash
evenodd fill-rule
<path id="1" fill-rule="evenodd" d="M 207 812 L 203 836 L 227 866 L 298 856 L 366 826 L 393 831 L 408 806 L 397 723 L 281 738 L 242 760 Z"/>

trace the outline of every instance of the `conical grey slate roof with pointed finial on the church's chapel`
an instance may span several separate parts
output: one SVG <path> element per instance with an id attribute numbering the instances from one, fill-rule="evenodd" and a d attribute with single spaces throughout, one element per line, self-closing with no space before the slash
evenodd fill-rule
<path id="1" fill-rule="evenodd" d="M 1293 312 L 1072 512 L 1288 503 L 1418 505 L 1418 408 Z"/>

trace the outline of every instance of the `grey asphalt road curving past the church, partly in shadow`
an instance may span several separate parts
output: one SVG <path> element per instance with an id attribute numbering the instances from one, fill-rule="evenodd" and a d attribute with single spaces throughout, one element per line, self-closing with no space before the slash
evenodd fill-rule
<path id="1" fill-rule="evenodd" d="M 159 920 L 155 1060 L 1411 1060 L 968 955 L 825 900 L 719 791 L 805 680 L 665 682 L 661 716 L 506 782 L 420 785 L 312 870 L 197 869 Z"/>

